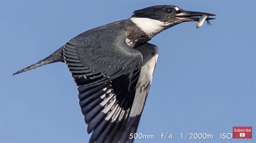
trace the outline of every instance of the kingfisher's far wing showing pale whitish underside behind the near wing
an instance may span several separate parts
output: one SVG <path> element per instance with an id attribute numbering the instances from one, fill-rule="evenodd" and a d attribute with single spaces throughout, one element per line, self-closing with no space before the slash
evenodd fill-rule
<path id="1" fill-rule="evenodd" d="M 134 102 L 131 107 L 131 113 L 128 117 L 128 123 L 126 124 L 124 131 L 122 133 L 123 135 L 121 138 L 121 143 L 126 142 L 126 140 L 128 140 L 129 143 L 132 143 L 134 140 L 133 135 L 137 131 L 140 116 L 142 114 L 146 98 L 148 96 L 152 76 L 158 58 L 158 48 L 155 45 L 145 43 L 144 45 L 137 47 L 136 50 L 139 50 L 142 53 L 143 65 L 136 87 L 136 93 Z"/>

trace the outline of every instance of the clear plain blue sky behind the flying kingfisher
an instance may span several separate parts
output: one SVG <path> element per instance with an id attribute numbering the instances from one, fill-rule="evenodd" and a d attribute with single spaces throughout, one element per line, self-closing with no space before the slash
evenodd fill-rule
<path id="1" fill-rule="evenodd" d="M 211 133 L 187 143 L 256 142 L 256 1 L 59 1 L 0 2 L 0 141 L 88 142 L 77 87 L 64 63 L 11 76 L 49 56 L 74 36 L 127 19 L 154 5 L 217 14 L 212 26 L 172 27 L 150 43 L 159 58 L 137 133 L 183 143 L 180 133 Z M 220 139 L 233 126 L 253 126 L 253 139 Z M 172 139 L 161 139 L 162 133 Z"/>

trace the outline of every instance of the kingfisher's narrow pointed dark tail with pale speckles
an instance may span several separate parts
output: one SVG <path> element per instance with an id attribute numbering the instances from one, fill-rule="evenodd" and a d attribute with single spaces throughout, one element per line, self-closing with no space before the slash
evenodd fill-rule
<path id="1" fill-rule="evenodd" d="M 64 62 L 63 48 L 64 48 L 64 46 L 62 46 L 61 48 L 59 48 L 58 50 L 53 52 L 47 58 L 42 59 L 41 61 L 36 62 L 35 64 L 32 64 L 32 65 L 30 65 L 26 68 L 23 68 L 22 70 L 17 71 L 16 73 L 12 74 L 12 76 L 16 75 L 18 73 L 23 73 L 25 71 L 32 70 L 32 69 L 37 68 L 37 67 L 41 67 L 45 64 L 50 64 L 50 63 L 55 63 L 55 62 Z"/>

